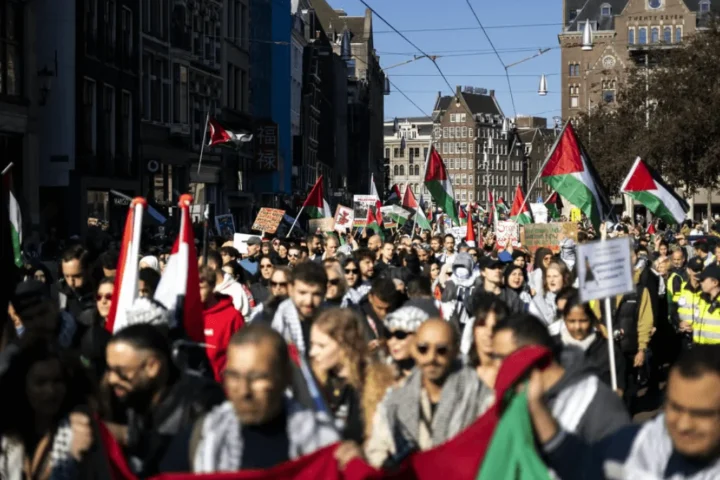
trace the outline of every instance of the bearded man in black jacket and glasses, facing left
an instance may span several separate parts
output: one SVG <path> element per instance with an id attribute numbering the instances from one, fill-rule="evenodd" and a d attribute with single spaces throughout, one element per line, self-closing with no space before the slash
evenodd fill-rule
<path id="1" fill-rule="evenodd" d="M 214 382 L 183 375 L 172 361 L 168 339 L 152 325 L 115 333 L 106 359 L 106 385 L 116 407 L 108 429 L 124 447 L 133 473 L 153 476 L 173 436 L 225 395 Z"/>

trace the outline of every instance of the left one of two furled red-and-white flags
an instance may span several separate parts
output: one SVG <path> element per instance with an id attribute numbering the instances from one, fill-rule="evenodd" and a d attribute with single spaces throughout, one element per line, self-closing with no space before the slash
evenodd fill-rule
<path id="1" fill-rule="evenodd" d="M 132 200 L 128 209 L 120 247 L 120 259 L 115 274 L 112 305 L 107 322 L 105 322 L 105 328 L 110 333 L 122 330 L 127 326 L 127 311 L 138 296 L 138 258 L 145 207 L 147 207 L 145 199 L 137 197 Z"/>

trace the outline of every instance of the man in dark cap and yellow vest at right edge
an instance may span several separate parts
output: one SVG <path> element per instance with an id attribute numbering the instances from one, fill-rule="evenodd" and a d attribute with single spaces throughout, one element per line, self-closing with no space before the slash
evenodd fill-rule
<path id="1" fill-rule="evenodd" d="M 692 329 L 693 343 L 704 345 L 720 344 L 720 267 L 710 265 L 698 276 L 702 294 L 692 313 L 683 308 L 685 314 L 681 328 Z"/>

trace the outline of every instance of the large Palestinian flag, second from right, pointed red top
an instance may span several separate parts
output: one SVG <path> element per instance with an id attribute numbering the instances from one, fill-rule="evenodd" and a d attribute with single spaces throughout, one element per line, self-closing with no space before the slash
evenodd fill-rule
<path id="1" fill-rule="evenodd" d="M 555 141 L 540 178 L 585 213 L 596 230 L 613 215 L 600 176 L 570 122 Z"/>

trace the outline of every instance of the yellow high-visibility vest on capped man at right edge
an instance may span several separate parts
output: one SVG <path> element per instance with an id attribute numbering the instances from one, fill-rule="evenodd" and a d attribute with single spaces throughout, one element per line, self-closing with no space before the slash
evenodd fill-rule
<path id="1" fill-rule="evenodd" d="M 693 343 L 720 345 L 720 302 L 708 302 L 700 291 L 692 292 L 686 286 L 678 301 L 680 321 L 692 326 Z"/>

